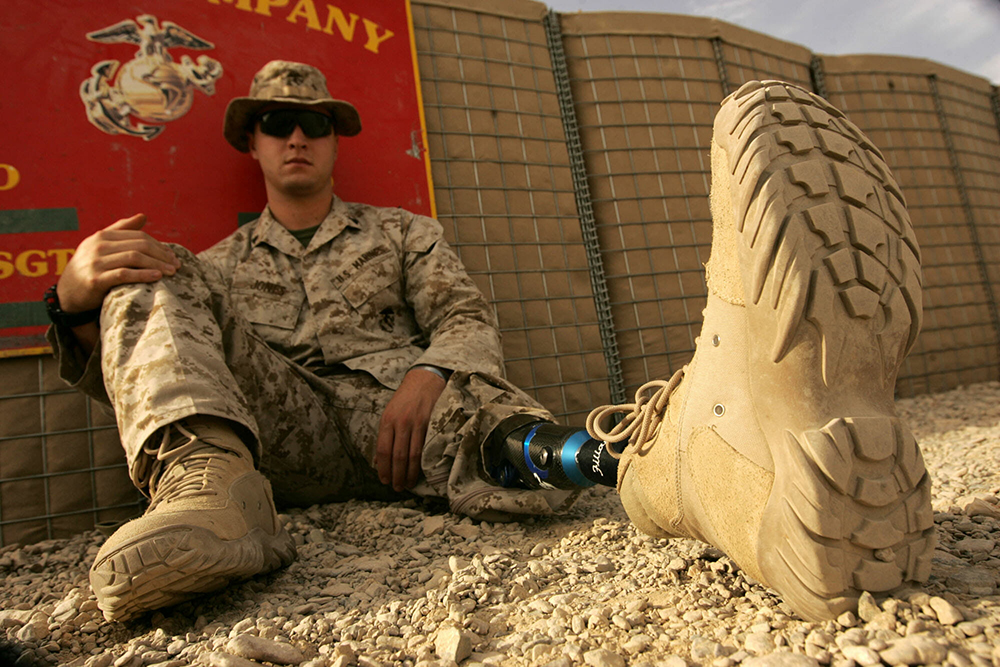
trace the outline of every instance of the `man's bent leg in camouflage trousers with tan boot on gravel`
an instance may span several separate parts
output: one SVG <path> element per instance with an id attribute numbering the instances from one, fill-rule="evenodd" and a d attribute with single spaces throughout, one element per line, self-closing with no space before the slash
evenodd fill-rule
<path id="1" fill-rule="evenodd" d="M 130 475 L 152 501 L 91 570 L 112 620 L 291 562 L 293 544 L 255 461 L 311 457 L 341 484 L 356 465 L 307 374 L 233 312 L 210 265 L 176 251 L 176 276 L 117 288 L 102 311 L 108 396 Z"/>

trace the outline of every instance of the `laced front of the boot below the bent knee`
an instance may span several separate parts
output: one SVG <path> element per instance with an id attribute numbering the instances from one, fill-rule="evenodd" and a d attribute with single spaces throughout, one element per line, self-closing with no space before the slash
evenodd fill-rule
<path id="1" fill-rule="evenodd" d="M 172 438 L 173 431 L 177 434 Z M 182 438 L 187 441 L 178 444 Z M 224 457 L 229 453 L 204 442 L 180 422 L 164 429 L 159 446 L 146 447 L 144 452 L 155 457 L 150 509 L 167 500 L 218 495 L 226 470 Z"/>

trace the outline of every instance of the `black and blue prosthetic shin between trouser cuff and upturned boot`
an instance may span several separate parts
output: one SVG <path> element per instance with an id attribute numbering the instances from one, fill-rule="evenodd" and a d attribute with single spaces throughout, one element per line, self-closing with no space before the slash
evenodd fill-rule
<path id="1" fill-rule="evenodd" d="M 533 415 L 500 422 L 484 449 L 486 471 L 503 487 L 580 489 L 617 480 L 618 460 L 605 443 Z"/>

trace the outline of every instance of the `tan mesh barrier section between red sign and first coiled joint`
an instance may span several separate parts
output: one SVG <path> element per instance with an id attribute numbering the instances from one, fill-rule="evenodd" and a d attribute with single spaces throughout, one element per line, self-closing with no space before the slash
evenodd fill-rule
<path id="1" fill-rule="evenodd" d="M 608 376 L 545 13 L 413 3 L 438 219 L 496 307 L 510 380 L 582 424 Z"/>

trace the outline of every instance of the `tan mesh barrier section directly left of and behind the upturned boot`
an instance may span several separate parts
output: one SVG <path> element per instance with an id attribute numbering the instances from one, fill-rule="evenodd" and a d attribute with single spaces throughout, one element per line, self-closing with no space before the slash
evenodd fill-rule
<path id="1" fill-rule="evenodd" d="M 631 394 L 694 353 L 719 102 L 753 78 L 809 86 L 810 54 L 714 19 L 597 13 L 561 23 Z"/>

